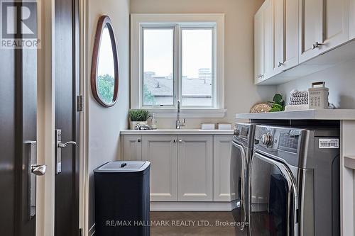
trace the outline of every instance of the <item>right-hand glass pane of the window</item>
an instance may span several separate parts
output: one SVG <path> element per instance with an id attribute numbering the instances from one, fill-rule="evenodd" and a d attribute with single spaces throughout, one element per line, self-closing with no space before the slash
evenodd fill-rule
<path id="1" fill-rule="evenodd" d="M 212 106 L 212 28 L 182 29 L 182 106 Z"/>

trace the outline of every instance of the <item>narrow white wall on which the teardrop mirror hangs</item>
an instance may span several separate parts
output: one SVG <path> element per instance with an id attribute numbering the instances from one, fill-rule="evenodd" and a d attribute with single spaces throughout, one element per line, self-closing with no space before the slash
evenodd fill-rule
<path id="1" fill-rule="evenodd" d="M 119 98 L 115 106 L 99 106 L 92 96 L 89 78 L 88 101 L 88 165 L 89 165 L 89 227 L 94 224 L 94 176 L 92 170 L 119 159 L 119 133 L 127 128 L 129 110 L 129 0 L 89 0 L 89 65 L 99 16 L 111 18 L 119 51 Z M 89 72 L 87 72 L 89 74 Z"/>

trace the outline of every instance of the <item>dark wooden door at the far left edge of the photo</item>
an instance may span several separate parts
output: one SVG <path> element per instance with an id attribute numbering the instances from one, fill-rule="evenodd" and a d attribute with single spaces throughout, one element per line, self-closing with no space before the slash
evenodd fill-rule
<path id="1" fill-rule="evenodd" d="M 13 6 L 21 11 L 19 5 Z M 35 236 L 28 144 L 35 150 L 36 98 L 37 50 L 0 48 L 0 235 Z"/>

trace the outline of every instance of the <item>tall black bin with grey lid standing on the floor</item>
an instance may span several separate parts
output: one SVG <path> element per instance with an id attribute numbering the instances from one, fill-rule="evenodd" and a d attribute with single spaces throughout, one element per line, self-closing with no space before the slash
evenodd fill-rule
<path id="1" fill-rule="evenodd" d="M 151 162 L 108 162 L 94 169 L 95 235 L 150 235 Z"/>

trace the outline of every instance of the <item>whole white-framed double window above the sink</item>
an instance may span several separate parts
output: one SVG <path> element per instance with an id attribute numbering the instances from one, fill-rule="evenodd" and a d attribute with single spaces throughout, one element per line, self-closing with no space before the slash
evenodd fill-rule
<path id="1" fill-rule="evenodd" d="M 221 117 L 223 86 L 222 14 L 131 15 L 132 108 Z"/>

